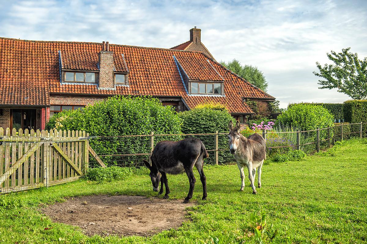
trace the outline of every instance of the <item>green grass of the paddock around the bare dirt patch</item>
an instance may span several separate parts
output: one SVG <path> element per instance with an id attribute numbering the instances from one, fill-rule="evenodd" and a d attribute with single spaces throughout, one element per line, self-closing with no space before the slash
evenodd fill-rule
<path id="1" fill-rule="evenodd" d="M 367 243 L 367 143 L 352 140 L 331 154 L 263 166 L 262 188 L 240 192 L 237 165 L 204 167 L 207 200 L 197 171 L 188 220 L 177 230 L 151 237 L 88 237 L 74 226 L 52 223 L 37 208 L 83 195 L 157 196 L 148 171 L 120 181 L 79 180 L 0 195 L 0 243 L 258 243 L 251 214 L 265 209 L 263 243 Z M 171 199 L 187 196 L 186 175 L 169 175 Z M 249 182 L 248 182 L 248 185 Z M 255 185 L 257 185 L 255 183 Z M 45 229 L 46 228 L 46 229 Z M 49 228 L 49 229 L 47 229 Z M 218 240 L 216 239 L 218 238 Z"/>

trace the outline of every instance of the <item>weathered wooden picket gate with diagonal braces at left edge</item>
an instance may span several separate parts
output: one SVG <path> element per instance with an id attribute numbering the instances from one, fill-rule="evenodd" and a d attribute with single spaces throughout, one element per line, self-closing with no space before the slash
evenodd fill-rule
<path id="1" fill-rule="evenodd" d="M 58 185 L 82 177 L 88 167 L 88 135 L 0 127 L 0 193 Z"/>

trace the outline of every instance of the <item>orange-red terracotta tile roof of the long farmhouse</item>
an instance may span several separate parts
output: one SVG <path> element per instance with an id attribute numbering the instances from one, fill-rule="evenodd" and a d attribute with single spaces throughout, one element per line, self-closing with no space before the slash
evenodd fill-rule
<path id="1" fill-rule="evenodd" d="M 227 104 L 230 112 L 252 113 L 242 97 L 273 100 L 274 97 L 226 70 L 200 52 L 126 45 L 109 45 L 116 71 L 128 72 L 128 86 L 114 90 L 95 84 L 60 83 L 59 53 L 63 69 L 98 70 L 101 43 L 27 41 L 0 37 L 0 106 L 50 105 L 49 96 L 150 95 L 182 97 L 189 108 L 204 100 Z M 224 82 L 224 96 L 189 95 L 174 57 L 192 80 Z"/>

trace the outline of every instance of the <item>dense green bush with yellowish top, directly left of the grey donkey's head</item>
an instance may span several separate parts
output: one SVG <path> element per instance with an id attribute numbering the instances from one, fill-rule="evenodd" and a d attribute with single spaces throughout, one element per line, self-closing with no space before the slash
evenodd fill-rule
<path id="1" fill-rule="evenodd" d="M 228 133 L 229 121 L 236 121 L 224 106 L 217 103 L 199 104 L 193 110 L 179 113 L 178 116 L 182 119 L 181 130 L 184 134 L 209 134 L 216 131 Z M 214 140 L 203 141 L 207 150 L 215 149 L 212 141 Z M 225 149 L 218 153 L 220 162 L 233 161 L 233 155 L 228 150 L 227 136 L 219 136 L 218 148 Z"/>

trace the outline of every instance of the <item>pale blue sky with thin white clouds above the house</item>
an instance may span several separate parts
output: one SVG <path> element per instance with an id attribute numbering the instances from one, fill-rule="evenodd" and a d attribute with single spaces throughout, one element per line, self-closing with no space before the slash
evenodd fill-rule
<path id="1" fill-rule="evenodd" d="M 281 108 L 350 100 L 318 89 L 316 62 L 348 47 L 367 57 L 366 0 L 0 0 L 6 38 L 171 48 L 195 26 L 215 60 L 262 71 Z"/>

